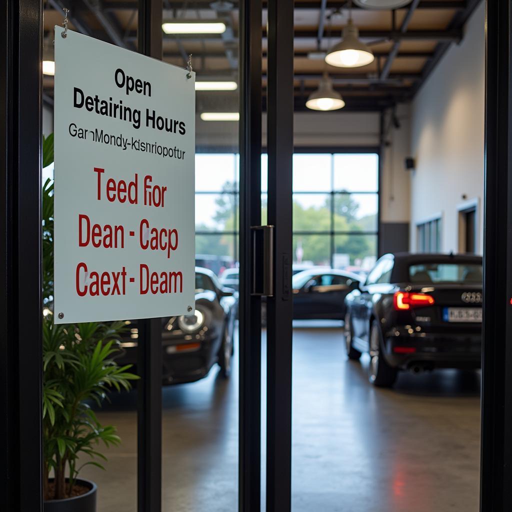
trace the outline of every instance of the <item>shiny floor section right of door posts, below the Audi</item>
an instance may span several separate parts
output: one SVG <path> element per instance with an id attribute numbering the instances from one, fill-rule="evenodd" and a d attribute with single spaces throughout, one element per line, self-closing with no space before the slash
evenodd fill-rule
<path id="1" fill-rule="evenodd" d="M 374 389 L 342 340 L 294 331 L 293 511 L 476 512 L 479 374 L 404 373 Z"/>

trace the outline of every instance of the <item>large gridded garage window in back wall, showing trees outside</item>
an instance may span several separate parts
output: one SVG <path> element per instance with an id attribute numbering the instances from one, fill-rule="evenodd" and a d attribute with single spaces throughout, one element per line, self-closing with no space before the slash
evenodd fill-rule
<path id="1" fill-rule="evenodd" d="M 267 222 L 262 155 L 262 224 Z M 216 274 L 238 264 L 239 156 L 196 156 L 196 264 Z M 370 270 L 377 255 L 378 154 L 293 155 L 293 263 Z"/>

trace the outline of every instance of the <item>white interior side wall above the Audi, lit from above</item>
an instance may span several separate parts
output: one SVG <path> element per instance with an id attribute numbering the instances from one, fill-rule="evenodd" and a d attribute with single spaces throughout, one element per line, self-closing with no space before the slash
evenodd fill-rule
<path id="1" fill-rule="evenodd" d="M 479 203 L 478 252 L 483 249 L 484 2 L 416 95 L 412 105 L 411 250 L 416 225 L 442 218 L 442 250 L 458 250 L 458 206 Z"/>

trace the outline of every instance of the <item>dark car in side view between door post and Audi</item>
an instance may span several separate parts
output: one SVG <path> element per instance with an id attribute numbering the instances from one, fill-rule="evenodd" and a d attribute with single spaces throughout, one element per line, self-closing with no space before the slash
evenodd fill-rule
<path id="1" fill-rule="evenodd" d="M 359 284 L 356 274 L 311 268 L 292 276 L 293 318 L 345 318 L 345 297 Z"/>

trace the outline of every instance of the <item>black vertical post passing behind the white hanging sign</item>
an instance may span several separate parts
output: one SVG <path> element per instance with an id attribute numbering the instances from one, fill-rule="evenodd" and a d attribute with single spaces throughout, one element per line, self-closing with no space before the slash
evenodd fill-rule
<path id="1" fill-rule="evenodd" d="M 139 52 L 162 59 L 162 2 L 139 0 Z M 162 509 L 162 324 L 138 321 L 137 509 Z"/>

